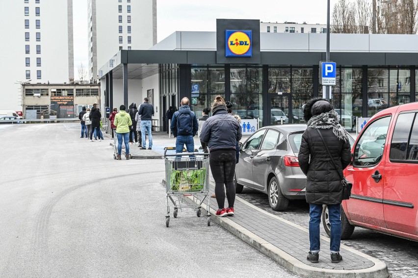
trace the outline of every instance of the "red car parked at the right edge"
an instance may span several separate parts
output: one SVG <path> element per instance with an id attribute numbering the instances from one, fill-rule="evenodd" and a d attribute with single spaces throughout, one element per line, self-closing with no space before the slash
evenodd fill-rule
<path id="1" fill-rule="evenodd" d="M 341 238 L 355 226 L 418 241 L 418 102 L 387 108 L 362 129 L 344 176 L 353 183 L 341 204 Z M 323 210 L 330 234 L 328 211 Z"/>

